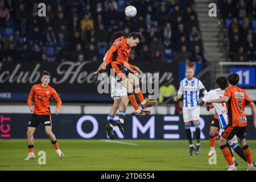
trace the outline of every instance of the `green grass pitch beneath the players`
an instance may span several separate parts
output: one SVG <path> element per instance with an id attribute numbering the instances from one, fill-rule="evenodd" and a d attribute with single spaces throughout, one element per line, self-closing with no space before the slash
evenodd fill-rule
<path id="1" fill-rule="evenodd" d="M 118 143 L 113 143 L 118 142 Z M 217 146 L 217 164 L 208 163 L 209 140 L 201 141 L 199 155 L 188 156 L 187 140 L 58 140 L 64 158 L 59 158 L 51 142 L 35 139 L 36 159 L 25 161 L 26 140 L 0 140 L 0 171 L 6 170 L 225 170 L 227 163 Z M 195 140 L 194 140 L 195 143 Z M 253 159 L 256 141 L 248 140 Z M 38 164 L 38 152 L 46 152 L 46 165 Z M 238 170 L 247 164 L 234 154 Z"/>

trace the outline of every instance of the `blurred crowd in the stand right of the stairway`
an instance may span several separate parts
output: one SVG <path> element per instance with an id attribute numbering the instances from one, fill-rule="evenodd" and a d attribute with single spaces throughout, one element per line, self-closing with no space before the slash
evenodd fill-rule
<path id="1" fill-rule="evenodd" d="M 232 61 L 256 61 L 256 0 L 218 0 Z"/>

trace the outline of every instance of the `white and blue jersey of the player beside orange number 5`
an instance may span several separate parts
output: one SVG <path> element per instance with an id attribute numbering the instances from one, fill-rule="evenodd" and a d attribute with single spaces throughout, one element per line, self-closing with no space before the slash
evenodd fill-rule
<path id="1" fill-rule="evenodd" d="M 210 90 L 202 100 L 204 102 L 209 100 L 216 100 L 224 96 L 225 90 L 221 90 L 220 88 L 215 90 Z M 220 129 L 224 129 L 226 125 L 228 125 L 228 109 L 226 108 L 225 103 L 213 103 L 213 107 L 217 113 L 218 121 L 220 122 Z"/>

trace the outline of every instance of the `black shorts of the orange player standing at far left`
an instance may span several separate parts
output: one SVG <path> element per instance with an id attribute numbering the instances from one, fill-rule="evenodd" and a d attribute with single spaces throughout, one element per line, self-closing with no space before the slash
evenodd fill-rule
<path id="1" fill-rule="evenodd" d="M 38 115 L 32 114 L 28 127 L 38 127 L 39 123 L 42 122 L 44 126 L 52 126 L 51 115 Z"/>

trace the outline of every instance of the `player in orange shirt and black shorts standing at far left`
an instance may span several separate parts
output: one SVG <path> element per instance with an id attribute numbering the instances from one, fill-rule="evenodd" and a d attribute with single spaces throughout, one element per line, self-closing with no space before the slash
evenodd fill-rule
<path id="1" fill-rule="evenodd" d="M 34 154 L 34 137 L 33 134 L 38 127 L 39 123 L 42 122 L 45 129 L 46 134 L 51 140 L 53 146 L 55 147 L 55 151 L 62 158 L 63 152 L 60 151 L 59 145 L 57 143 L 55 135 L 52 133 L 52 119 L 51 119 L 51 111 L 49 108 L 51 97 L 55 99 L 57 102 L 55 113 L 58 115 L 60 113 L 61 100 L 55 89 L 49 86 L 49 81 L 51 78 L 51 74 L 47 71 L 44 71 L 41 75 L 41 84 L 36 84 L 32 86 L 30 95 L 28 96 L 28 106 L 32 114 L 32 118 L 28 122 L 27 127 L 27 143 L 28 143 L 28 156 L 25 160 L 35 159 Z M 32 98 L 34 98 L 35 105 L 32 106 Z"/>

